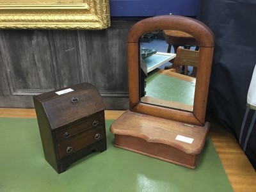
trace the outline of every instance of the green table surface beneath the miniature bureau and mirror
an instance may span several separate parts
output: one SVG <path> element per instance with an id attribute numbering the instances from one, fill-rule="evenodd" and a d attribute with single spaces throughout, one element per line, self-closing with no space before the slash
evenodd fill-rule
<path id="1" fill-rule="evenodd" d="M 0 191 L 232 191 L 207 138 L 196 170 L 113 147 L 58 174 L 44 159 L 35 118 L 0 118 Z"/>

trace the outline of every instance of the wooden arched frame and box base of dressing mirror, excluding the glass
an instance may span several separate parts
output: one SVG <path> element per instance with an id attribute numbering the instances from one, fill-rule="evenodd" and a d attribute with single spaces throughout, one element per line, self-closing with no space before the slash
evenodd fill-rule
<path id="1" fill-rule="evenodd" d="M 139 63 L 140 38 L 159 29 L 184 31 L 200 45 L 193 111 L 142 102 Z M 157 16 L 141 20 L 128 35 L 129 110 L 110 127 L 115 146 L 163 161 L 196 168 L 209 123 L 205 109 L 211 73 L 214 36 L 202 22 L 188 17 Z M 182 97 L 182 95 L 180 95 Z"/>

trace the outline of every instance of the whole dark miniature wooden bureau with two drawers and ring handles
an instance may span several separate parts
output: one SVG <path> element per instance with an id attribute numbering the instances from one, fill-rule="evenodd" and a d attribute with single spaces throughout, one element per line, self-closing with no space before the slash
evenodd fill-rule
<path id="1" fill-rule="evenodd" d="M 33 97 L 45 159 L 58 173 L 93 151 L 106 150 L 104 102 L 89 83 Z"/>

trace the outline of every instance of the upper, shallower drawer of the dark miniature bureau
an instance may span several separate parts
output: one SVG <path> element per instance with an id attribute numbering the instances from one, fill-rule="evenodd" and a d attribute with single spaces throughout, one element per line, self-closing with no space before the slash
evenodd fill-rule
<path id="1" fill-rule="evenodd" d="M 56 131 L 57 141 L 67 140 L 68 138 L 75 136 L 79 132 L 86 131 L 87 129 L 97 127 L 98 125 L 102 125 L 104 123 L 105 122 L 103 115 L 92 116 L 91 118 L 83 120 L 83 122 L 79 122 L 72 125 L 71 127 L 61 129 L 61 131 Z"/>

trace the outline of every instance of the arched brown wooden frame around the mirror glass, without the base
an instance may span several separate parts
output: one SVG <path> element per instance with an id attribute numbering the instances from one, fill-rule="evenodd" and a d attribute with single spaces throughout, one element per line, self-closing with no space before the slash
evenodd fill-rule
<path id="1" fill-rule="evenodd" d="M 192 113 L 140 102 L 140 38 L 145 33 L 162 29 L 189 33 L 200 46 Z M 134 24 L 129 31 L 127 42 L 129 109 L 138 113 L 203 126 L 205 124 L 205 111 L 214 50 L 214 35 L 211 29 L 202 22 L 188 17 L 161 15 L 150 17 Z"/>

